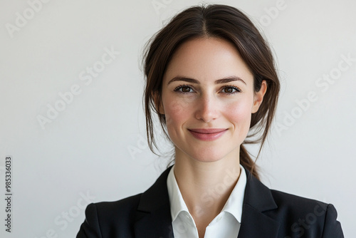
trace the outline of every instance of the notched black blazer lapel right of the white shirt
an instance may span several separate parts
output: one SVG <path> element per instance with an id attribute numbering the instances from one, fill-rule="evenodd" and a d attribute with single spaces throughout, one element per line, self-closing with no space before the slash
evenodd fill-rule
<path id="1" fill-rule="evenodd" d="M 246 170 L 247 183 L 238 238 L 275 238 L 280 224 L 263 212 L 276 209 L 271 190 Z"/>

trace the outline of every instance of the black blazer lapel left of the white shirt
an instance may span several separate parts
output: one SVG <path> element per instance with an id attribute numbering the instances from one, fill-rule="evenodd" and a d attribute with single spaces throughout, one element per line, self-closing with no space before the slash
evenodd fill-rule
<path id="1" fill-rule="evenodd" d="M 155 184 L 142 194 L 136 212 L 135 237 L 174 237 L 167 190 L 170 169 L 165 170 Z"/>

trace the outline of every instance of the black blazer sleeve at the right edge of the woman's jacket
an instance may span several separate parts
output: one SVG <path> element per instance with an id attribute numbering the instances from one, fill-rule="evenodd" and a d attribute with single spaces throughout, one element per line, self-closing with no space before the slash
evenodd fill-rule
<path id="1" fill-rule="evenodd" d="M 333 205 L 329 204 L 326 209 L 323 238 L 344 238 L 341 224 L 336 220 L 337 212 Z"/>

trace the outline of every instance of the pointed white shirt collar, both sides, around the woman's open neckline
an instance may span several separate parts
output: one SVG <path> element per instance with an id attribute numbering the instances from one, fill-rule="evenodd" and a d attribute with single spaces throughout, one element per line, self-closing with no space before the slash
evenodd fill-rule
<path id="1" fill-rule="evenodd" d="M 244 203 L 244 194 L 246 188 L 246 172 L 244 167 L 240 165 L 240 176 L 239 180 L 237 181 L 234 190 L 232 190 L 231 195 L 229 196 L 226 204 L 224 205 L 222 212 L 229 212 L 232 214 L 238 222 L 241 223 L 241 216 L 242 216 L 242 207 Z M 171 216 L 172 222 L 178 217 L 180 212 L 187 212 L 189 213 L 188 207 L 185 204 L 182 194 L 179 190 L 177 180 L 174 176 L 174 165 L 172 169 L 169 171 L 167 177 L 167 188 L 168 188 L 168 195 L 169 195 L 169 203 L 171 207 Z"/>

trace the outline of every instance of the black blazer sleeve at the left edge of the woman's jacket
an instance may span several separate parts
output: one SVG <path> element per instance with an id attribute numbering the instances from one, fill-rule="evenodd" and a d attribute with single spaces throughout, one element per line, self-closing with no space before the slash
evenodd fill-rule
<path id="1" fill-rule="evenodd" d="M 85 209 L 85 221 L 80 226 L 76 238 L 102 238 L 95 204 L 91 203 Z"/>

